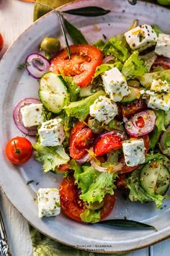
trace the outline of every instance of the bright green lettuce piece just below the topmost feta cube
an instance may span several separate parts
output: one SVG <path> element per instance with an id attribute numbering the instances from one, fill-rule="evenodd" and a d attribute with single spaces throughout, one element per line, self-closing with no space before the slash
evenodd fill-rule
<path id="1" fill-rule="evenodd" d="M 125 61 L 122 67 L 122 74 L 126 78 L 135 78 L 143 76 L 147 72 L 147 67 L 143 59 L 138 58 L 138 51 L 134 51 L 133 54 Z"/>

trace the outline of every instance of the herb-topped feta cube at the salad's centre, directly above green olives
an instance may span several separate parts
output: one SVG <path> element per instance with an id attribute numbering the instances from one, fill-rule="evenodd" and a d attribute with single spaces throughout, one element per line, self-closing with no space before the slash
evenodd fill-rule
<path id="1" fill-rule="evenodd" d="M 117 113 L 117 104 L 106 96 L 99 96 L 90 106 L 90 115 L 104 124 L 109 124 L 109 121 L 114 119 Z"/>

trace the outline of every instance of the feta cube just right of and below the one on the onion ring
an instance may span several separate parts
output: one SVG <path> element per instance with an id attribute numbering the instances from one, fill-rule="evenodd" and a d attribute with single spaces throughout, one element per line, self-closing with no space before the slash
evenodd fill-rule
<path id="1" fill-rule="evenodd" d="M 38 130 L 40 135 L 40 145 L 44 147 L 54 147 L 61 145 L 65 139 L 62 119 L 55 118 L 42 123 Z"/>

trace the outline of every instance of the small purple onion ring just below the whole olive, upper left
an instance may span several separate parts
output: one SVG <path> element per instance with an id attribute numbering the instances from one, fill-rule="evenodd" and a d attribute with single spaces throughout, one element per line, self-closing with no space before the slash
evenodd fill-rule
<path id="1" fill-rule="evenodd" d="M 50 67 L 50 62 L 45 56 L 41 54 L 30 54 L 25 60 L 27 72 L 32 75 L 32 77 L 39 79 L 42 74 L 48 72 Z"/>

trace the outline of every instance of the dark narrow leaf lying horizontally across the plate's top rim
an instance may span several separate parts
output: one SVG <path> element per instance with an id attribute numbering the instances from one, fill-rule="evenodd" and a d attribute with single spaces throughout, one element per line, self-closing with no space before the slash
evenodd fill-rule
<path id="1" fill-rule="evenodd" d="M 109 10 L 105 10 L 102 7 L 82 7 L 77 9 L 70 9 L 67 11 L 63 11 L 68 14 L 86 16 L 86 17 L 97 17 L 102 16 L 109 13 Z"/>

